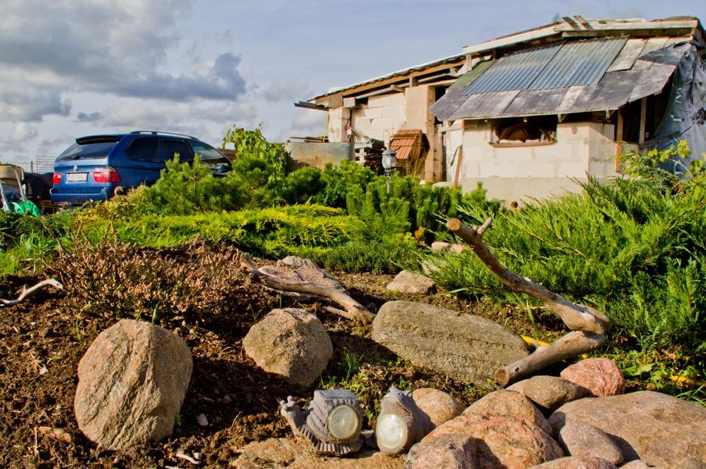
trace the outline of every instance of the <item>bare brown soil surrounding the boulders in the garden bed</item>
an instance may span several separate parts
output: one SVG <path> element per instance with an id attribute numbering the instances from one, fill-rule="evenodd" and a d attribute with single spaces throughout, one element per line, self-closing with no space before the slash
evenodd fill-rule
<path id="1" fill-rule="evenodd" d="M 561 325 L 553 319 L 533 329 L 526 312 L 457 299 L 443 292 L 397 295 L 385 290 L 392 275 L 334 273 L 352 297 L 377 310 L 390 299 L 412 299 L 479 314 L 505 323 L 518 333 L 553 338 Z M 0 297 L 18 295 L 23 284 L 41 278 L 6 278 Z M 240 281 L 240 280 L 238 280 Z M 136 447 L 128 453 L 102 451 L 78 430 L 73 417 L 78 361 L 98 333 L 117 318 L 92 315 L 67 292 L 44 291 L 0 312 L 0 467 L 2 468 L 164 468 L 196 467 L 177 453 L 201 453 L 198 467 L 235 467 L 244 447 L 272 437 L 292 439 L 278 403 L 288 395 L 301 403 L 321 386 L 354 379 L 366 413 L 364 428 L 376 415 L 375 405 L 391 384 L 414 389 L 434 387 L 465 404 L 488 389 L 474 388 L 398 360 L 370 339 L 370 327 L 325 311 L 325 302 L 278 295 L 259 285 L 242 285 L 230 308 L 201 317 L 164 317 L 156 323 L 179 334 L 193 352 L 191 384 L 180 422 L 169 439 Z M 90 305 L 89 305 L 90 306 Z M 241 340 L 249 327 L 273 308 L 301 307 L 323 321 L 334 355 L 321 381 L 309 388 L 287 384 L 266 374 L 244 355 Z M 346 357 L 358 368 L 347 369 Z M 208 426 L 198 425 L 204 414 Z M 253 467 L 253 466 L 249 466 Z"/>

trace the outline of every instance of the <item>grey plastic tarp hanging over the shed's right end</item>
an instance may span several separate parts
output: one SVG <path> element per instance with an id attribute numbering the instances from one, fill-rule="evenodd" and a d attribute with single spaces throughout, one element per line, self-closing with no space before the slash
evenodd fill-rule
<path id="1" fill-rule="evenodd" d="M 699 46 L 691 42 L 677 65 L 669 104 L 654 138 L 657 142 L 654 148 L 659 149 L 686 140 L 692 160 L 706 153 L 706 64 L 700 57 Z M 683 173 L 688 168 L 672 162 L 668 169 Z"/>

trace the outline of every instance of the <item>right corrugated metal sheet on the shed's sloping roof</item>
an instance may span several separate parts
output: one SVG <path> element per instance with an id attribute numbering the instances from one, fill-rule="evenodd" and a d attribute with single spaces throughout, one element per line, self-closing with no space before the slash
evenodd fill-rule
<path id="1" fill-rule="evenodd" d="M 623 49 L 626 37 L 566 42 L 527 90 L 595 85 Z"/>

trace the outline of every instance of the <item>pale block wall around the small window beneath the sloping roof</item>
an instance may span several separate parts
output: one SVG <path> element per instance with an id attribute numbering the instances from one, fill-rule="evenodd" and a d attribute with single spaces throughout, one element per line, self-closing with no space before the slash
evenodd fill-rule
<path id="1" fill-rule="evenodd" d="M 484 121 L 465 121 L 460 182 L 464 191 L 481 182 L 491 198 L 510 203 L 544 198 L 565 191 L 580 191 L 570 178 L 599 179 L 617 176 L 613 124 L 560 123 L 556 143 L 497 147 L 491 126 Z"/>

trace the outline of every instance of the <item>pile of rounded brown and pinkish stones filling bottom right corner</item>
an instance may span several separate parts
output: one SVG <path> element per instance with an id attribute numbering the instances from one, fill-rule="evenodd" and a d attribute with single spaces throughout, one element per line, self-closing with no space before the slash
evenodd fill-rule
<path id="1" fill-rule="evenodd" d="M 607 359 L 520 381 L 434 429 L 405 469 L 706 468 L 705 408 L 624 390 Z"/>

